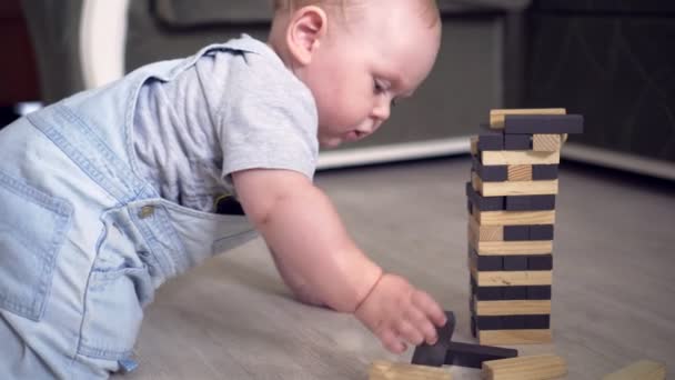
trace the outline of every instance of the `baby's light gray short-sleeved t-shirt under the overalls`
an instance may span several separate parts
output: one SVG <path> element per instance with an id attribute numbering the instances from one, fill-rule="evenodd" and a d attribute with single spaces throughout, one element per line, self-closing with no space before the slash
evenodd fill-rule
<path id="1" fill-rule="evenodd" d="M 230 174 L 286 169 L 312 179 L 319 154 L 310 90 L 248 36 L 209 49 L 175 80 L 140 90 L 134 149 L 162 198 L 202 211 L 234 194 Z"/>

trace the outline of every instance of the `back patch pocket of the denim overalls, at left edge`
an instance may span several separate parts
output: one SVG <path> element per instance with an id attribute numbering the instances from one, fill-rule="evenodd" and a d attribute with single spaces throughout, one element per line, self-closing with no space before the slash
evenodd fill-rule
<path id="1" fill-rule="evenodd" d="M 72 206 L 0 171 L 0 308 L 39 321 Z"/>

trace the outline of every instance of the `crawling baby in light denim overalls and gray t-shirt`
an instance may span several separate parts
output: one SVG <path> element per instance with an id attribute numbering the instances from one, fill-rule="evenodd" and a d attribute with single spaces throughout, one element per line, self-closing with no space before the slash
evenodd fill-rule
<path id="1" fill-rule="evenodd" d="M 413 94 L 440 38 L 433 0 L 279 0 L 268 43 L 152 63 L 3 129 L 0 378 L 133 369 L 155 289 L 254 231 L 300 300 L 394 353 L 434 343 L 441 307 L 371 261 L 312 178 L 319 146 Z"/>

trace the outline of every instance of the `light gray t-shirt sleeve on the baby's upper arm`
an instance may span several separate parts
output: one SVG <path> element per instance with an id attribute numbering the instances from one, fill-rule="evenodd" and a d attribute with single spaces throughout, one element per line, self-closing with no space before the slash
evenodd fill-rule
<path id="1" fill-rule="evenodd" d="M 311 180 L 319 142 L 310 90 L 269 58 L 245 53 L 231 63 L 216 118 L 223 178 L 230 181 L 232 172 L 246 169 L 286 169 Z"/>

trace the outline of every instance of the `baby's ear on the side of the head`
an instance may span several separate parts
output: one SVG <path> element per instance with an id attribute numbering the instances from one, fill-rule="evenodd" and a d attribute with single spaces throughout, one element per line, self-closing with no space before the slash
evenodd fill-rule
<path id="1" fill-rule="evenodd" d="M 300 64 L 309 64 L 312 54 L 325 36 L 328 17 L 323 9 L 309 6 L 295 11 L 289 22 L 286 43 L 289 51 Z"/>

